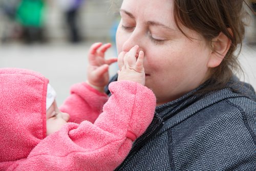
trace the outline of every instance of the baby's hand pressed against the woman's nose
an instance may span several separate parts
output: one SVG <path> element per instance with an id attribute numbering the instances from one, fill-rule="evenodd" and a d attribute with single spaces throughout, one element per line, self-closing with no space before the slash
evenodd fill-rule
<path id="1" fill-rule="evenodd" d="M 118 72 L 118 80 L 135 81 L 143 86 L 145 85 L 145 72 L 143 67 L 143 51 L 137 51 L 138 45 L 135 45 L 129 52 L 121 52 L 118 56 L 118 66 L 120 71 Z M 136 59 L 136 56 L 138 58 Z"/>

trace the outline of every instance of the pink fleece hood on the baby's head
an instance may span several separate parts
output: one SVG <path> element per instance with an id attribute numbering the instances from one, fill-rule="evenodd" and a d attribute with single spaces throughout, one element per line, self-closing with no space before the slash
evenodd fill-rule
<path id="1" fill-rule="evenodd" d="M 46 137 L 49 80 L 25 69 L 0 69 L 0 162 L 26 158 Z"/>

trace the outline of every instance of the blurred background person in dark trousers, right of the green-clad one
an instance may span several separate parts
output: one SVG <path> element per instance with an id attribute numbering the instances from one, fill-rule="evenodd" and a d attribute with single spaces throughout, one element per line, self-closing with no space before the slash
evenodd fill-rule
<path id="1" fill-rule="evenodd" d="M 58 0 L 58 3 L 65 15 L 65 22 L 69 30 L 69 40 L 73 43 L 81 40 L 79 32 L 78 15 L 84 0 Z"/>

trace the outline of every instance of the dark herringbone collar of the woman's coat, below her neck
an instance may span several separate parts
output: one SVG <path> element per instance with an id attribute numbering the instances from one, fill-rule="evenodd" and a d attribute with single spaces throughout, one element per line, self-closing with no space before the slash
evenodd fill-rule
<path id="1" fill-rule="evenodd" d="M 226 88 L 222 90 L 211 91 L 206 94 L 197 94 L 199 90 L 202 90 L 207 86 L 209 86 L 209 83 L 206 81 L 201 86 L 188 92 L 182 97 L 157 106 L 155 115 L 165 121 L 170 117 L 174 117 L 181 111 L 189 110 L 190 113 L 195 113 L 206 106 L 226 98 L 246 97 L 256 101 L 255 91 L 251 85 L 245 82 L 240 82 L 236 76 L 231 77 Z M 189 117 L 189 115 L 187 115 L 187 117 Z"/>

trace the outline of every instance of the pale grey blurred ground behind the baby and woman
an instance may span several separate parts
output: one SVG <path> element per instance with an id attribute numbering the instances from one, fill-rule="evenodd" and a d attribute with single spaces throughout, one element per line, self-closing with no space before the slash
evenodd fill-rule
<path id="1" fill-rule="evenodd" d="M 71 45 L 52 42 L 45 45 L 0 44 L 0 68 L 18 67 L 38 71 L 49 78 L 57 92 L 57 103 L 68 97 L 72 84 L 87 78 L 87 54 L 91 42 Z M 116 56 L 111 48 L 106 57 Z M 240 61 L 245 71 L 245 81 L 256 89 L 256 46 L 244 46 Z M 111 67 L 114 75 L 117 65 Z"/>

